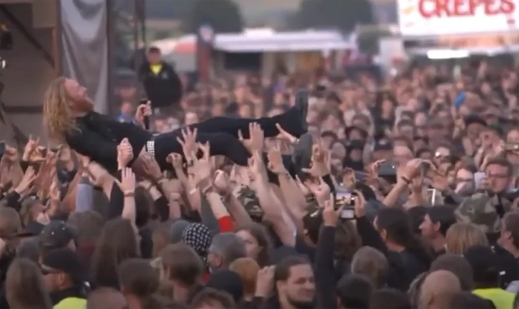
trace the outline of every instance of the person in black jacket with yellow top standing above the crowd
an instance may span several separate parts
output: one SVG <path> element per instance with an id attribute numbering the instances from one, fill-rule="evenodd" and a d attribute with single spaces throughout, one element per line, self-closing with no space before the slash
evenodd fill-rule
<path id="1" fill-rule="evenodd" d="M 162 60 L 159 48 L 148 49 L 147 61 L 140 68 L 139 79 L 153 109 L 159 111 L 170 107 L 179 108 L 182 82 L 173 66 Z"/>

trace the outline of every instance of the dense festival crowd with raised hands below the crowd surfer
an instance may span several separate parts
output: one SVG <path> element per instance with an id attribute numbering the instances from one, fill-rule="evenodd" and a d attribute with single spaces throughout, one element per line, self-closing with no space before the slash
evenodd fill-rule
<path id="1" fill-rule="evenodd" d="M 113 169 L 70 136 L 6 145 L 0 308 L 519 308 L 519 70 L 460 69 L 184 85 L 118 119 L 179 151 L 114 139 Z M 244 161 L 214 116 L 247 122 Z"/>

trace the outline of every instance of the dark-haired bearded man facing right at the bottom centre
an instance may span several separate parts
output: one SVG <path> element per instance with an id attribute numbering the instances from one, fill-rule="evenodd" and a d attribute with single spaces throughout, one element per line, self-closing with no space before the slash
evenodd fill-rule
<path id="1" fill-rule="evenodd" d="M 304 256 L 288 256 L 282 259 L 276 265 L 274 283 L 277 291 L 276 297 L 268 301 L 267 308 L 315 308 L 313 269 Z"/>

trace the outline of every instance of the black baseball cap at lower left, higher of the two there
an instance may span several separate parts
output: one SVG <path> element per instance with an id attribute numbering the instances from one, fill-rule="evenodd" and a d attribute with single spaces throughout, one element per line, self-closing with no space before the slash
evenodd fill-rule
<path id="1" fill-rule="evenodd" d="M 66 247 L 72 240 L 76 231 L 61 220 L 52 220 L 39 234 L 39 244 L 46 250 Z"/>

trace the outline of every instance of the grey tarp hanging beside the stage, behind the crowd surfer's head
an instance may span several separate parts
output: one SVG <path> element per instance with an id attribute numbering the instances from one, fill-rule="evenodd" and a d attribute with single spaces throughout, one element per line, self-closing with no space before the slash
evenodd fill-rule
<path id="1" fill-rule="evenodd" d="M 108 112 L 108 31 L 106 0 L 61 3 L 63 75 L 88 89 L 95 110 Z"/>

